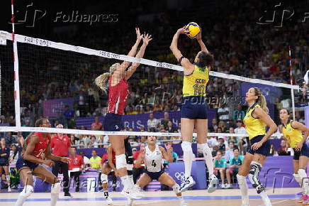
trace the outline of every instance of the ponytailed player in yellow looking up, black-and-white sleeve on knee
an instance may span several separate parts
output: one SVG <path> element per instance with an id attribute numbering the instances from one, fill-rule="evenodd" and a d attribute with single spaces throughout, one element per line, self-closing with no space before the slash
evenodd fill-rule
<path id="1" fill-rule="evenodd" d="M 266 156 L 269 156 L 271 148 L 269 137 L 277 130 L 277 126 L 268 114 L 266 99 L 259 88 L 250 88 L 245 99 L 249 108 L 243 121 L 249 135 L 250 146 L 237 174 L 240 192 L 242 193 L 242 206 L 249 205 L 247 175 L 249 175 L 252 186 L 261 195 L 264 205 L 270 206 L 271 202 L 266 194 L 265 187 L 259 181 L 259 172 L 266 161 Z M 269 127 L 267 132 L 266 126 Z"/>

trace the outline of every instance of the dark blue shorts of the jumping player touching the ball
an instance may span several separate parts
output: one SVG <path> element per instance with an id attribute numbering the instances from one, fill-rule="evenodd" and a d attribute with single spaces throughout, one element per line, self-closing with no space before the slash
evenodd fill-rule
<path id="1" fill-rule="evenodd" d="M 208 105 L 205 97 L 183 97 L 181 102 L 181 118 L 207 119 Z"/>

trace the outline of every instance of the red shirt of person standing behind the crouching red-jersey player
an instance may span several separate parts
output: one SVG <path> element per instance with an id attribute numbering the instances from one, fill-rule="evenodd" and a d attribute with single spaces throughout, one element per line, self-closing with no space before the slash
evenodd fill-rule
<path id="1" fill-rule="evenodd" d="M 63 135 L 63 138 L 60 139 L 56 134 L 54 138 L 52 138 L 50 147 L 54 148 L 52 154 L 55 156 L 67 156 L 69 154 L 69 147 L 71 147 L 69 137 L 67 135 Z"/>

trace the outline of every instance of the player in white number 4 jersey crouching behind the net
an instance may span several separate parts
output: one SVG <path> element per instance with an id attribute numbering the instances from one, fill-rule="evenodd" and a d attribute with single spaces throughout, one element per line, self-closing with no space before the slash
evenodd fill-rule
<path id="1" fill-rule="evenodd" d="M 172 163 L 173 161 L 170 146 L 167 146 L 167 151 L 162 146 L 158 146 L 155 136 L 148 136 L 147 143 L 148 145 L 140 152 L 135 163 L 137 167 L 140 166 L 142 162 L 145 163 L 145 173 L 143 173 L 140 179 L 137 180 L 135 189 L 140 191 L 141 188 L 144 188 L 151 183 L 152 180 L 158 180 L 160 183 L 173 188 L 177 197 L 179 197 L 180 205 L 186 205 L 179 191 L 179 185 L 171 176 L 164 172 L 162 165 L 163 158 L 169 161 L 169 163 Z"/>

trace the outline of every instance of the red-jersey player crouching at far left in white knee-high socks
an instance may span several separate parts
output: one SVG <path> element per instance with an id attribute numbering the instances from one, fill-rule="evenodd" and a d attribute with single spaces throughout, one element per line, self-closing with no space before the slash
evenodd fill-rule
<path id="1" fill-rule="evenodd" d="M 51 125 L 48 119 L 38 119 L 35 126 L 50 127 Z M 55 165 L 54 161 L 69 163 L 69 158 L 54 156 L 50 153 L 50 134 L 43 132 L 30 134 L 23 144 L 23 153 L 16 162 L 16 168 L 19 171 L 24 188 L 18 195 L 15 206 L 23 205 L 27 197 L 33 193 L 33 175 L 52 184 L 50 205 L 56 205 L 60 193 L 60 180 L 49 170 L 39 166 L 39 164 L 45 164 L 52 167 Z"/>

